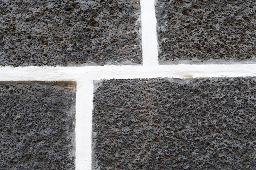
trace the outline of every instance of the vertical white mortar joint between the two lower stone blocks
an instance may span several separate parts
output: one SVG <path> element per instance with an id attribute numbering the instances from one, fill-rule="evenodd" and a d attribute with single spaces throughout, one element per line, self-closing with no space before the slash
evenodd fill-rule
<path id="1" fill-rule="evenodd" d="M 93 82 L 77 82 L 76 102 L 76 170 L 92 170 Z"/>

